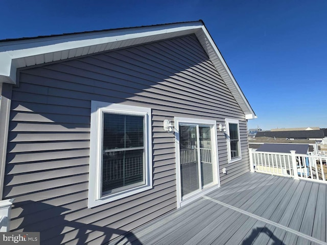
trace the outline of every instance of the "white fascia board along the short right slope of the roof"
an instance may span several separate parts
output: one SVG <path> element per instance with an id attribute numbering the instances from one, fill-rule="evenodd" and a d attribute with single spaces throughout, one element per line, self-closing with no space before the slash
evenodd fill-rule
<path id="1" fill-rule="evenodd" d="M 243 112 L 245 113 L 245 116 L 247 117 L 246 119 L 256 118 L 256 115 L 255 115 L 254 111 L 252 110 L 250 104 L 248 103 L 248 101 L 247 101 L 244 93 L 242 92 L 240 86 L 238 85 L 238 83 L 236 82 L 235 78 L 231 74 L 230 69 L 228 68 L 228 66 L 227 66 L 224 58 L 222 57 L 221 53 L 218 50 L 218 47 L 216 46 L 214 40 L 211 38 L 210 34 L 206 30 L 205 26 L 202 26 L 202 31 L 203 31 L 204 35 L 206 36 L 208 42 L 210 43 L 210 47 L 213 49 L 215 55 L 217 56 L 217 58 L 219 59 L 219 61 L 223 65 L 224 71 L 227 73 L 228 78 L 231 80 L 231 83 L 232 84 L 227 84 L 228 82 L 225 81 L 226 82 L 226 85 L 228 86 L 229 90 L 233 93 L 233 96 L 238 101 L 238 104 L 241 106 L 241 109 L 243 110 Z M 203 46 L 203 48 L 204 48 L 204 50 L 207 50 L 208 47 L 204 47 Z M 233 88 L 235 88 L 235 89 L 233 89 Z M 237 94 L 235 94 L 235 92 L 234 92 L 235 90 L 237 91 Z M 240 96 L 241 101 L 238 100 L 238 96 L 237 95 Z"/>

